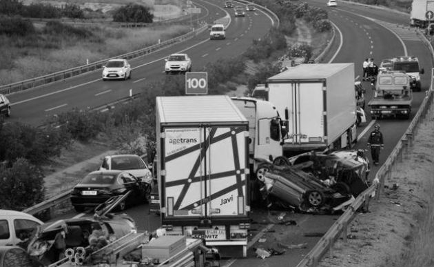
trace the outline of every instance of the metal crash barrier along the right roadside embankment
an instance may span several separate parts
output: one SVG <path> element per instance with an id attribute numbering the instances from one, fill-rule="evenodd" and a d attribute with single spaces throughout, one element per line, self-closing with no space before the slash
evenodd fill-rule
<path id="1" fill-rule="evenodd" d="M 433 46 L 425 37 L 422 38 L 422 41 L 430 50 L 431 59 L 433 59 Z M 403 158 L 408 155 L 409 148 L 413 147 L 413 139 L 417 134 L 420 122 L 426 116 L 426 112 L 428 112 L 430 105 L 433 104 L 433 79 L 434 68 L 431 70 L 431 86 L 429 90 L 426 91 L 426 97 L 422 101 L 419 110 L 417 110 L 415 117 L 409 124 L 409 128 L 407 128 L 406 132 L 404 132 L 404 135 L 402 135 L 401 139 L 397 142 L 389 157 L 375 174 L 373 184 L 369 186 L 369 188 L 364 190 L 364 192 L 362 192 L 355 199 L 353 204 L 351 204 L 351 206 L 349 206 L 349 208 L 338 218 L 338 220 L 335 221 L 335 223 L 331 226 L 331 228 L 329 228 L 327 233 L 325 233 L 321 237 L 320 241 L 318 241 L 318 243 L 312 248 L 312 250 L 304 256 L 304 258 L 302 259 L 302 261 L 300 261 L 297 267 L 318 266 L 318 263 L 325 255 L 325 253 L 327 253 L 327 251 L 329 250 L 333 250 L 334 242 L 341 235 L 343 241 L 347 242 L 348 228 L 351 224 L 351 221 L 353 221 L 353 219 L 358 215 L 358 210 L 360 210 L 360 208 L 367 208 L 369 206 L 369 200 L 371 199 L 371 196 L 375 191 L 375 199 L 380 199 L 382 190 L 384 190 L 385 179 L 391 179 L 393 167 L 395 166 L 395 164 L 399 164 L 400 162 L 402 162 Z"/>

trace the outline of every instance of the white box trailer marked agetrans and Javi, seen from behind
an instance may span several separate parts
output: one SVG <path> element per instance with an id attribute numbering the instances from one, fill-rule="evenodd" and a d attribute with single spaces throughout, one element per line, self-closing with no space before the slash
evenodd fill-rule
<path id="1" fill-rule="evenodd" d="M 157 179 L 168 235 L 247 256 L 249 124 L 227 96 L 156 97 Z"/>

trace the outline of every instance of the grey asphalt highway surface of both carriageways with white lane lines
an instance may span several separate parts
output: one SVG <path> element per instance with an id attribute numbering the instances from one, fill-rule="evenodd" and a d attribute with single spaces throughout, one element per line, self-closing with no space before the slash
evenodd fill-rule
<path id="1" fill-rule="evenodd" d="M 195 1 L 203 9 L 207 10 L 207 21 L 214 21 L 218 17 L 225 16 L 222 1 Z M 398 23 L 408 25 L 409 17 L 402 14 L 356 6 L 340 1 L 337 8 L 327 8 L 324 1 L 309 1 L 309 5 L 326 8 L 329 10 L 329 19 L 337 26 L 336 38 L 331 51 L 323 63 L 354 62 L 355 76 L 362 75 L 362 61 L 366 57 L 373 57 L 380 64 L 382 59 L 399 55 L 415 55 L 420 59 L 421 67 L 425 69 L 422 75 L 422 92 L 413 93 L 413 112 L 425 96 L 431 83 L 431 68 L 433 63 L 429 52 L 422 43 L 415 38 L 412 32 L 394 26 Z M 233 16 L 231 12 L 231 16 Z M 386 27 L 385 27 L 386 26 Z M 240 55 L 251 44 L 251 39 L 263 37 L 271 28 L 271 20 L 261 12 L 247 12 L 246 17 L 231 17 L 231 24 L 227 30 L 227 39 L 223 41 L 209 41 L 208 32 L 200 34 L 196 39 L 172 46 L 165 50 L 155 52 L 147 57 L 141 57 L 130 61 L 132 63 L 133 78 L 128 81 L 101 81 L 101 72 L 74 77 L 66 81 L 53 83 L 48 86 L 27 90 L 16 95 L 11 95 L 12 121 L 23 121 L 32 125 L 39 125 L 44 117 L 56 112 L 78 108 L 100 106 L 103 103 L 125 97 L 129 90 L 133 92 L 145 89 L 145 82 L 165 77 L 163 74 L 163 59 L 174 52 L 187 52 L 193 60 L 193 70 L 201 70 L 206 63 L 216 61 L 223 57 Z M 372 92 L 369 84 L 364 82 L 366 90 L 366 103 L 371 99 Z M 54 108 L 54 109 L 53 109 Z M 369 110 L 366 110 L 368 113 Z M 397 140 L 402 137 L 411 120 L 383 119 L 380 122 L 383 135 L 386 137 L 385 148 L 380 156 L 380 163 L 384 162 L 387 155 L 393 150 Z M 366 132 L 371 131 L 372 121 L 368 115 L 368 122 L 358 129 L 360 141 L 355 148 L 366 148 Z M 364 134 L 364 135 L 362 135 Z M 371 177 L 380 166 L 372 166 Z M 134 217 L 139 230 L 155 230 L 159 226 L 159 217 L 149 215 L 147 205 L 136 206 L 127 210 Z M 76 215 L 76 214 L 73 214 Z M 67 215 L 70 216 L 70 215 Z M 269 226 L 269 215 L 265 210 L 254 210 L 252 219 L 260 224 L 252 224 L 253 238 L 260 229 Z M 245 259 L 229 259 L 222 262 L 222 266 L 296 266 L 303 255 L 312 248 L 320 237 L 306 237 L 306 233 L 325 233 L 333 224 L 338 215 L 307 215 L 293 213 L 287 215 L 289 219 L 297 222 L 297 226 L 274 226 L 276 239 L 273 242 L 284 240 L 286 244 L 307 243 L 304 250 L 288 250 L 285 255 L 273 256 L 262 260 L 254 257 L 254 244 L 248 250 Z M 265 221 L 264 221 L 265 219 Z M 271 240 L 269 240 L 271 242 Z"/>

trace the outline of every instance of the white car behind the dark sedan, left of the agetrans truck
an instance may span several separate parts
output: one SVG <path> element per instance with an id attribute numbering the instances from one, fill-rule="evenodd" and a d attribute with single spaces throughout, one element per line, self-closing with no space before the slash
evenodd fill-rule
<path id="1" fill-rule="evenodd" d="M 99 170 L 125 170 L 141 181 L 152 184 L 152 172 L 138 155 L 105 156 Z"/>

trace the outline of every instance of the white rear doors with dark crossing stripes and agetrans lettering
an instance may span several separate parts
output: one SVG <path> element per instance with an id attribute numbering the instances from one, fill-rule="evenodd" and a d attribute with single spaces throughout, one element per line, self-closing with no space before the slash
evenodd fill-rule
<path id="1" fill-rule="evenodd" d="M 164 131 L 166 221 L 246 215 L 247 124 Z"/>

